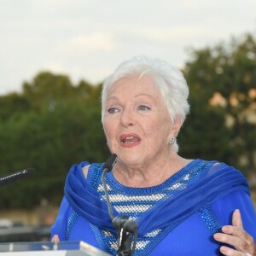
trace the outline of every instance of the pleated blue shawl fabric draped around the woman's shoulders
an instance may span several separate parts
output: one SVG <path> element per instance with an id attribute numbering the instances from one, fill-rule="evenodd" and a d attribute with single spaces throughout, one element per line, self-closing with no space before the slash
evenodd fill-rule
<path id="1" fill-rule="evenodd" d="M 99 198 L 96 190 L 84 177 L 82 168 L 88 164 L 82 162 L 72 166 L 67 175 L 65 196 L 74 211 L 91 224 L 116 234 L 108 214 L 107 203 Z M 224 163 L 208 162 L 195 183 L 189 184 L 186 189 L 171 198 L 158 201 L 154 207 L 137 218 L 139 236 L 167 225 L 176 226 L 198 212 L 201 207 L 236 191 L 246 191 L 249 194 L 247 180 L 241 172 Z M 114 208 L 113 215 L 119 215 Z"/>

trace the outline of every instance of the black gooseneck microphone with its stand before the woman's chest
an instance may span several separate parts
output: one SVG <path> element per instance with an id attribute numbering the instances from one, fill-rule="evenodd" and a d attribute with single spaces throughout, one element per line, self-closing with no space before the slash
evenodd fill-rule
<path id="1" fill-rule="evenodd" d="M 119 215 L 118 217 L 113 217 L 113 210 L 109 201 L 108 189 L 106 184 L 106 173 L 111 172 L 114 164 L 116 163 L 116 154 L 112 154 L 105 165 L 103 166 L 102 172 L 102 185 L 104 193 L 106 195 L 106 201 L 108 205 L 108 213 L 112 219 L 113 227 L 118 234 L 117 242 L 117 254 L 119 256 L 132 256 L 135 251 L 137 236 L 138 236 L 138 226 L 137 222 L 129 216 Z M 133 246 L 131 248 L 131 238 L 134 236 Z"/>

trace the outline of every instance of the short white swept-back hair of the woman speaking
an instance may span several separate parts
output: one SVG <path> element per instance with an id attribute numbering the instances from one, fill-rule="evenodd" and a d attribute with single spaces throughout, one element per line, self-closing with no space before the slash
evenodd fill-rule
<path id="1" fill-rule="evenodd" d="M 102 123 L 106 111 L 108 92 L 119 79 L 138 76 L 150 76 L 154 84 L 160 90 L 160 95 L 166 105 L 172 123 L 180 118 L 182 124 L 189 113 L 189 86 L 183 77 L 183 73 L 166 61 L 153 59 L 146 55 L 132 57 L 122 62 L 119 67 L 104 81 L 102 85 Z M 173 148 L 178 149 L 177 143 Z"/>

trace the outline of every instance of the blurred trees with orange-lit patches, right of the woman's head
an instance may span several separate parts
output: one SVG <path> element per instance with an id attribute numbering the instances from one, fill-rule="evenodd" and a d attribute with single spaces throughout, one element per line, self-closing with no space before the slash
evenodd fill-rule
<path id="1" fill-rule="evenodd" d="M 255 173 L 255 38 L 246 35 L 227 45 L 192 50 L 184 73 L 192 113 L 181 135 L 182 152 Z"/>

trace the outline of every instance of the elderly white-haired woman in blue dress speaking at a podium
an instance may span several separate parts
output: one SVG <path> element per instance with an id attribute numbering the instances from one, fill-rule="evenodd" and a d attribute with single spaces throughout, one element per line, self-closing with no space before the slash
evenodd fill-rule
<path id="1" fill-rule="evenodd" d="M 256 215 L 241 172 L 177 154 L 188 96 L 179 70 L 146 56 L 123 62 L 103 84 L 102 125 L 118 155 L 106 175 L 113 215 L 137 221 L 135 255 L 256 255 Z M 71 168 L 52 241 L 116 254 L 102 166 Z"/>

